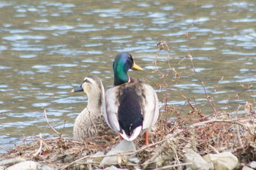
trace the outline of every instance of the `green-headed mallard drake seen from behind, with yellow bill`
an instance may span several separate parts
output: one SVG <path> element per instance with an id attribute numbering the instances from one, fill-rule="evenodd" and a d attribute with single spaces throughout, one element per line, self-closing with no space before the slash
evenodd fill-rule
<path id="1" fill-rule="evenodd" d="M 105 120 L 127 141 L 145 131 L 148 144 L 148 128 L 157 122 L 159 106 L 157 93 L 140 80 L 127 75 L 129 69 L 143 70 L 136 65 L 129 53 L 118 53 L 113 63 L 114 85 L 105 94 Z"/>

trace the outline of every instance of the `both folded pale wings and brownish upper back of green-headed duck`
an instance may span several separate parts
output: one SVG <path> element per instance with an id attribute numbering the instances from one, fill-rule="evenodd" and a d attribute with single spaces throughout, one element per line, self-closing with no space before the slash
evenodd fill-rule
<path id="1" fill-rule="evenodd" d="M 121 102 L 120 96 L 122 96 L 123 90 L 130 86 L 135 88 L 134 92 L 137 93 L 140 100 L 141 114 L 143 115 L 142 129 L 147 130 L 151 128 L 151 126 L 157 122 L 159 116 L 157 93 L 155 93 L 154 88 L 150 85 L 135 80 L 134 83 L 127 83 L 110 88 L 105 93 L 105 107 L 103 107 L 104 117 L 110 128 L 112 128 L 113 131 L 118 131 L 120 134 L 124 134 L 118 121 L 118 108 Z M 138 129 L 135 133 L 136 135 L 133 136 L 138 136 L 140 129 Z"/>

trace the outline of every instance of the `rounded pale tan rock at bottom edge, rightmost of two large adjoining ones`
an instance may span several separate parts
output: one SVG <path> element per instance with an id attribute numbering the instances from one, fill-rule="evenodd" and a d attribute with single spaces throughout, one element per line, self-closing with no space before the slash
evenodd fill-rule
<path id="1" fill-rule="evenodd" d="M 231 152 L 208 154 L 203 157 L 207 162 L 214 163 L 214 169 L 232 170 L 238 165 L 238 158 Z"/>

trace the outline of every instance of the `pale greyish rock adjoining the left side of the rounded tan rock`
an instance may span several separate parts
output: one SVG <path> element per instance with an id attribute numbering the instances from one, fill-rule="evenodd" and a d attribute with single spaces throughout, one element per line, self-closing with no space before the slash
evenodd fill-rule
<path id="1" fill-rule="evenodd" d="M 185 162 L 192 163 L 188 165 L 191 169 L 210 170 L 214 169 L 213 163 L 207 163 L 197 152 L 189 150 L 185 153 Z"/>

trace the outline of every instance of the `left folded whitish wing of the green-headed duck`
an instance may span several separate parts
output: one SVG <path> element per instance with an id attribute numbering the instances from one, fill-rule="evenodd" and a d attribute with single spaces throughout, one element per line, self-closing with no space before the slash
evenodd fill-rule
<path id="1" fill-rule="evenodd" d="M 118 87 L 113 87 L 105 93 L 105 107 L 103 107 L 103 115 L 106 122 L 113 129 L 113 131 L 120 132 L 120 125 L 118 123 L 118 107 L 120 105 L 116 98 Z M 104 106 L 104 105 L 103 105 Z"/>

